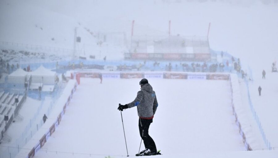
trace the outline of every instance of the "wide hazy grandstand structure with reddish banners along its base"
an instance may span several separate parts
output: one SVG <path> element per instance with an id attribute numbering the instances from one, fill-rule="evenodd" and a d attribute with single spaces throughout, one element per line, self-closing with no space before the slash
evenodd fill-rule
<path id="1" fill-rule="evenodd" d="M 129 60 L 209 61 L 211 59 L 207 37 L 197 36 L 133 36 Z"/>

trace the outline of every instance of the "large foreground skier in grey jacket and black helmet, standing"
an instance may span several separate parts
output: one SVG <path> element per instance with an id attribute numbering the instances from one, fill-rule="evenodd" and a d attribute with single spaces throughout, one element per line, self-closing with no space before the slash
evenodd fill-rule
<path id="1" fill-rule="evenodd" d="M 119 104 L 118 110 L 131 108 L 137 106 L 137 113 L 139 116 L 139 132 L 142 140 L 144 141 L 145 150 L 136 154 L 136 156 L 149 156 L 156 155 L 157 149 L 154 140 L 149 135 L 149 127 L 153 122 L 155 111 L 158 107 L 153 87 L 149 84 L 147 79 L 141 79 L 139 82 L 141 91 L 137 92 L 137 97 L 131 103 L 121 105 Z"/>

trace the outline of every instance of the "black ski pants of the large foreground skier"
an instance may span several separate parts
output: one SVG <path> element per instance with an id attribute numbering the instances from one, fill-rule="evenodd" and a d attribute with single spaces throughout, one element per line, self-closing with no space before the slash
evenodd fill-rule
<path id="1" fill-rule="evenodd" d="M 149 135 L 149 127 L 152 122 L 153 119 L 147 120 L 139 118 L 139 132 L 142 140 L 144 141 L 145 148 L 157 152 L 154 140 Z"/>

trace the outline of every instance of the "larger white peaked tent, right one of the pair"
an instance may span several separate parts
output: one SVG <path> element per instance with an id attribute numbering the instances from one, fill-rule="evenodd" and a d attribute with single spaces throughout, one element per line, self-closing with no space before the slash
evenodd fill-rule
<path id="1" fill-rule="evenodd" d="M 29 72 L 29 74 L 32 75 L 32 83 L 55 84 L 56 72 L 46 69 L 42 65 L 35 71 Z"/>

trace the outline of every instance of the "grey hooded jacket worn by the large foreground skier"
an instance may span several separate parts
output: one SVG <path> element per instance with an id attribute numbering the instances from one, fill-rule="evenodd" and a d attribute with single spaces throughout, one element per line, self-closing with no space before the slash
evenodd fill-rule
<path id="1" fill-rule="evenodd" d="M 128 108 L 135 106 L 137 106 L 139 117 L 149 118 L 155 114 L 158 103 L 153 87 L 149 83 L 142 86 L 133 102 L 128 103 Z"/>

